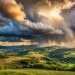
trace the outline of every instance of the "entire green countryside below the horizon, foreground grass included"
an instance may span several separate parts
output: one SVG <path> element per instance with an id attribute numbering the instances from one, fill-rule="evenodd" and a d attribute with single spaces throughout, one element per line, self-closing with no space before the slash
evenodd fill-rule
<path id="1" fill-rule="evenodd" d="M 0 75 L 75 75 L 75 48 L 0 49 Z"/>

